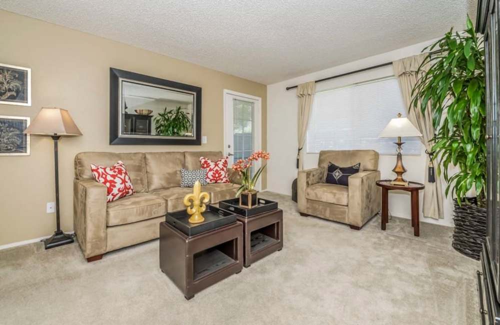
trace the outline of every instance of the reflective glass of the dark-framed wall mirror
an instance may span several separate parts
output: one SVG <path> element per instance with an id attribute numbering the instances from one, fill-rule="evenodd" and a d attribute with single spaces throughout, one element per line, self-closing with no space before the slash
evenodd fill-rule
<path id="1" fill-rule="evenodd" d="M 194 137 L 195 94 L 121 80 L 121 134 Z"/>

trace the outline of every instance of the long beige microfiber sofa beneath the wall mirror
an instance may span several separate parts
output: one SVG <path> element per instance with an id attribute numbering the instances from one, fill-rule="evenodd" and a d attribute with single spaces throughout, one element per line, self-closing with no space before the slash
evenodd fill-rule
<path id="1" fill-rule="evenodd" d="M 180 187 L 180 169 L 199 169 L 199 157 L 222 157 L 217 151 L 80 152 L 74 157 L 73 226 L 88 261 L 102 254 L 157 238 L 167 211 L 185 208 L 182 200 L 192 188 Z M 92 178 L 90 164 L 111 166 L 121 160 L 136 191 L 106 203 L 106 188 Z M 210 202 L 234 197 L 239 174 L 229 168 L 231 183 L 202 186 Z"/>

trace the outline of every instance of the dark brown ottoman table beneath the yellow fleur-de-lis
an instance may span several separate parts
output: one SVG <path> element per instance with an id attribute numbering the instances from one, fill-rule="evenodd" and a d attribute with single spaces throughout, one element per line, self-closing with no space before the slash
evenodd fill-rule
<path id="1" fill-rule="evenodd" d="M 205 219 L 207 219 L 206 216 Z M 238 221 L 191 236 L 167 222 L 160 222 L 159 265 L 161 271 L 189 300 L 202 289 L 234 273 L 241 272 L 243 268 L 242 234 L 243 225 Z"/>

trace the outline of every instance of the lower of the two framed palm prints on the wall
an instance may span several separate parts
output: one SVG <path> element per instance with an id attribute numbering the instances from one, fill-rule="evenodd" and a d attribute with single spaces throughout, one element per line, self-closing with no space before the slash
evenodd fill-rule
<path id="1" fill-rule="evenodd" d="M 0 115 L 0 155 L 29 155 L 29 117 Z"/>

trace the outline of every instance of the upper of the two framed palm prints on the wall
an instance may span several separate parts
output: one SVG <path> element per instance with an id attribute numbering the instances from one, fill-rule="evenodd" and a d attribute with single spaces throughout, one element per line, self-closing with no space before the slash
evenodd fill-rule
<path id="1" fill-rule="evenodd" d="M 31 69 L 0 63 L 0 104 L 31 106 Z"/>

